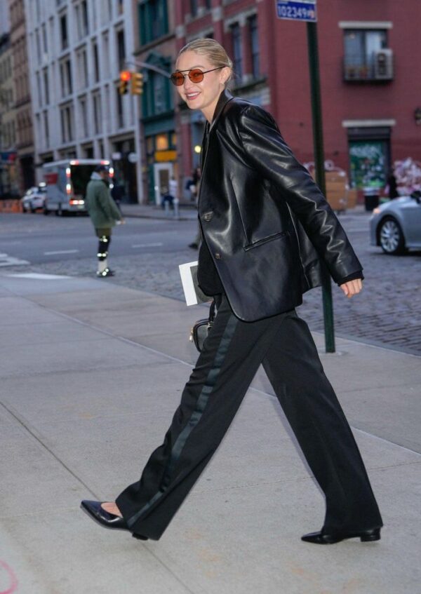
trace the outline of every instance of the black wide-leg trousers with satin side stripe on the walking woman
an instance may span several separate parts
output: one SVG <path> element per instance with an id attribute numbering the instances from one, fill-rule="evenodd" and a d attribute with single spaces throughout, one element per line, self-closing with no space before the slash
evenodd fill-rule
<path id="1" fill-rule="evenodd" d="M 295 311 L 242 322 L 225 296 L 163 444 L 116 499 L 131 532 L 157 540 L 225 436 L 262 363 L 326 496 L 328 532 L 382 526 L 345 414 Z M 256 431 L 264 431 L 256 427 Z"/>

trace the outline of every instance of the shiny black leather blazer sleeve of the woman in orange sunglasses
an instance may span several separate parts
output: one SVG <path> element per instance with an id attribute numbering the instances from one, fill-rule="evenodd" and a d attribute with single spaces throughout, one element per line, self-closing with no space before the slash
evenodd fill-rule
<path id="1" fill-rule="evenodd" d="M 283 140 L 272 116 L 250 104 L 241 111 L 238 131 L 248 165 L 279 189 L 279 199 L 297 215 L 333 280 L 338 283 L 362 271 L 338 217 Z"/>

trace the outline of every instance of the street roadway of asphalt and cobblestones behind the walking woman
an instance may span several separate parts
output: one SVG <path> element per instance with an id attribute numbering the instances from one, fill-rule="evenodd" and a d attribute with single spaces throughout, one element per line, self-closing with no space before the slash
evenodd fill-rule
<path id="1" fill-rule="evenodd" d="M 358 297 L 346 299 L 333 285 L 338 336 L 421 354 L 421 252 L 393 257 L 369 244 L 368 213 L 349 212 L 340 220 L 364 266 Z M 118 283 L 183 299 L 178 264 L 196 259 L 187 248 L 196 222 L 128 218 L 116 227 L 109 264 Z M 87 217 L 0 215 L 0 272 L 95 275 L 97 243 Z M 13 258 L 28 262 L 13 265 Z M 298 310 L 312 330 L 323 330 L 321 290 L 305 295 Z M 202 317 L 198 314 L 198 317 Z"/>

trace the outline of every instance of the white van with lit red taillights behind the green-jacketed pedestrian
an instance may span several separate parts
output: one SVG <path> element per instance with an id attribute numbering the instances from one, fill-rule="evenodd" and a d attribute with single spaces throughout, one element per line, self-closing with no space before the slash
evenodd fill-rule
<path id="1" fill-rule="evenodd" d="M 74 158 L 44 163 L 46 198 L 44 215 L 55 212 L 60 216 L 68 212 L 86 213 L 86 186 L 98 165 L 109 167 L 109 161 L 97 158 Z M 112 177 L 112 168 L 109 168 Z"/>

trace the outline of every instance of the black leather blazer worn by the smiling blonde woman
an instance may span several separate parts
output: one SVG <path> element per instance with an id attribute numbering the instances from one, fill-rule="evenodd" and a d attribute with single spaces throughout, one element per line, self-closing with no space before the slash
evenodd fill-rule
<path id="1" fill-rule="evenodd" d="M 206 125 L 199 221 L 235 315 L 253 321 L 362 270 L 338 218 L 272 116 L 223 91 Z"/>

